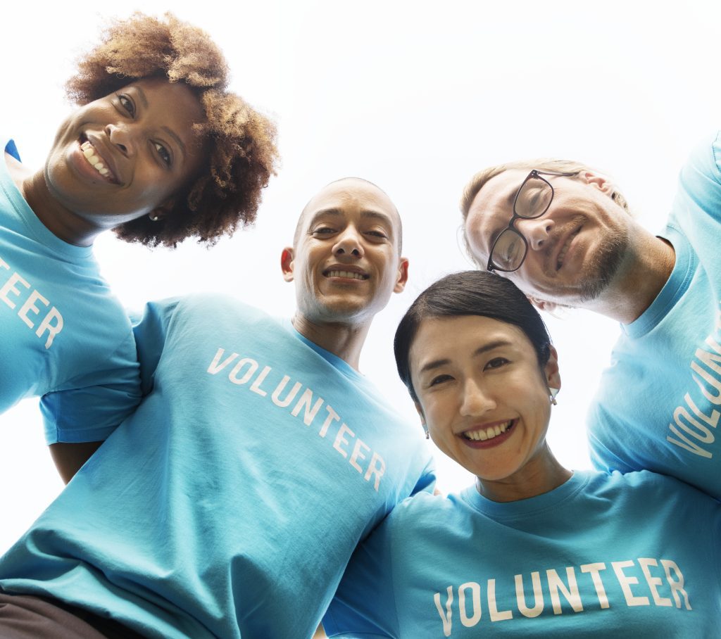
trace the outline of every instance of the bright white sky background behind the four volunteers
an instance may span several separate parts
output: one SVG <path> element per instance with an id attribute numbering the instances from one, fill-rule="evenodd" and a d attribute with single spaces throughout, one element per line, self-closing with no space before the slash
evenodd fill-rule
<path id="1" fill-rule="evenodd" d="M 417 292 L 469 268 L 456 238 L 457 202 L 475 171 L 527 157 L 585 161 L 614 176 L 656 230 L 689 149 L 720 123 L 717 2 L 223 4 L 145 0 L 143 10 L 172 6 L 221 45 L 233 89 L 278 122 L 280 174 L 256 227 L 210 251 L 193 243 L 149 251 L 106 233 L 96 244 L 105 276 L 131 308 L 217 290 L 288 315 L 294 297 L 280 277 L 280 250 L 301 208 L 333 179 L 370 179 L 401 212 L 411 266 L 406 292 L 376 320 L 361 370 L 413 421 L 394 371 L 392 334 Z M 72 61 L 107 17 L 139 7 L 11 6 L 2 15 L 0 127 L 25 163 L 39 168 L 71 109 L 62 85 Z M 582 311 L 547 322 L 563 378 L 549 441 L 562 463 L 586 468 L 585 407 L 618 327 Z M 438 462 L 444 490 L 469 483 L 454 463 L 442 455 Z M 35 401 L 0 416 L 0 481 L 1 552 L 62 488 Z"/>

